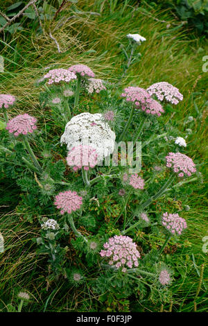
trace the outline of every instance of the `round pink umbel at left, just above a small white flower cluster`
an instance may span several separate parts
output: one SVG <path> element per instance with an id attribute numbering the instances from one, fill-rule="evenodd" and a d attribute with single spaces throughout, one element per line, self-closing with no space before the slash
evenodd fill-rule
<path id="1" fill-rule="evenodd" d="M 60 214 L 75 212 L 83 204 L 83 197 L 78 196 L 76 191 L 64 191 L 55 196 L 54 205 L 60 208 Z"/>

